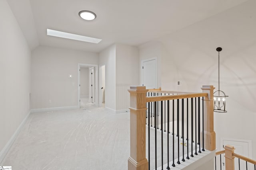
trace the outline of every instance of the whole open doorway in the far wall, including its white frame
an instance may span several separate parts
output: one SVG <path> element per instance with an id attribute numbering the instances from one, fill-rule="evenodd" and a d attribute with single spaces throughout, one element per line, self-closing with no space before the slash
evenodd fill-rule
<path id="1" fill-rule="evenodd" d="M 84 69 L 88 70 L 86 76 L 84 75 L 86 74 L 84 73 Z M 81 74 L 87 79 L 86 83 L 81 77 Z M 84 88 L 86 88 L 86 90 Z M 81 95 L 81 92 L 86 94 L 86 91 L 88 92 L 88 96 Z M 78 108 L 84 108 L 92 104 L 98 106 L 98 65 L 78 63 Z"/>

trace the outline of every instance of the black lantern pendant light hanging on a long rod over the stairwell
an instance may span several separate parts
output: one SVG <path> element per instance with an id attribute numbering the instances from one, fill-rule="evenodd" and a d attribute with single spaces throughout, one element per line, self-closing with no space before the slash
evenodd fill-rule
<path id="1" fill-rule="evenodd" d="M 214 111 L 215 112 L 221 112 L 221 113 L 226 113 L 226 94 L 220 90 L 220 51 L 222 51 L 221 47 L 218 47 L 216 49 L 219 53 L 219 89 L 213 93 L 213 99 L 214 99 Z"/>

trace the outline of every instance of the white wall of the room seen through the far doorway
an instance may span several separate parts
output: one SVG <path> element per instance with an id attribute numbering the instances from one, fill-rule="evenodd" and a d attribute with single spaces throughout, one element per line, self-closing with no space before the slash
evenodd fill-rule
<path id="1" fill-rule="evenodd" d="M 89 96 L 89 68 L 80 68 L 80 96 Z"/>

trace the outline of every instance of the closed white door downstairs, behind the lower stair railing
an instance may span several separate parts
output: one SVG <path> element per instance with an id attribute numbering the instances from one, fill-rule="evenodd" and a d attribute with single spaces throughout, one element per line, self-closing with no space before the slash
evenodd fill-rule
<path id="1" fill-rule="evenodd" d="M 249 157 L 249 143 L 248 141 L 241 141 L 235 139 L 223 139 L 223 147 L 231 145 L 235 148 L 234 152 L 245 157 Z M 248 170 L 250 170 L 250 164 L 247 164 Z M 225 170 L 225 157 L 222 155 L 222 166 Z M 235 158 L 235 170 L 239 170 L 238 158 Z M 246 161 L 240 159 L 240 170 L 246 170 Z"/>

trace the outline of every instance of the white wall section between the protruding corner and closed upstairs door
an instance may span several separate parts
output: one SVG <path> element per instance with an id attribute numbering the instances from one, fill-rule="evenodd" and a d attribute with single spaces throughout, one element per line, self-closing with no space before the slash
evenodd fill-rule
<path id="1" fill-rule="evenodd" d="M 130 86 L 139 86 L 139 51 L 137 47 L 116 44 L 116 110 L 130 107 Z"/>

